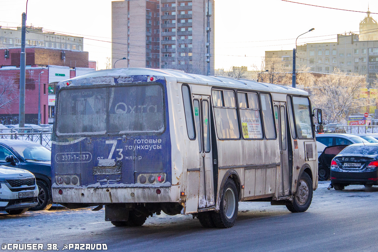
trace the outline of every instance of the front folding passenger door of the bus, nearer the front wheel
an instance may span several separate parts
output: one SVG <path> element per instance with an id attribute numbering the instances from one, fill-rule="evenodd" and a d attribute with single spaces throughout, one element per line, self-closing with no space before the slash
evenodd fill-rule
<path id="1" fill-rule="evenodd" d="M 276 116 L 277 130 L 280 139 L 280 158 L 281 158 L 281 183 L 279 185 L 279 196 L 287 196 L 290 194 L 290 172 L 288 159 L 288 144 L 287 144 L 287 123 L 286 123 L 286 108 L 285 103 L 280 103 L 279 106 L 274 106 L 274 114 Z"/>

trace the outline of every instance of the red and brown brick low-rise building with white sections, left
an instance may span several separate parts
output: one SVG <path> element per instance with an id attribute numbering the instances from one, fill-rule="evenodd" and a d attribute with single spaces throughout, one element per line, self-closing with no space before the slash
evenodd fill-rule
<path id="1" fill-rule="evenodd" d="M 38 47 L 27 47 L 25 51 L 25 123 L 37 124 L 38 122 L 38 93 L 40 93 L 41 102 L 41 123 L 52 123 L 56 83 L 94 71 L 96 64 L 93 61 L 89 62 L 88 52 L 85 51 Z M 13 99 L 5 108 L 0 108 L 0 123 L 2 124 L 18 123 L 20 52 L 21 48 L 0 48 L 0 105 L 1 92 L 5 87 L 11 90 L 7 99 Z M 40 77 L 39 89 L 38 77 Z"/>

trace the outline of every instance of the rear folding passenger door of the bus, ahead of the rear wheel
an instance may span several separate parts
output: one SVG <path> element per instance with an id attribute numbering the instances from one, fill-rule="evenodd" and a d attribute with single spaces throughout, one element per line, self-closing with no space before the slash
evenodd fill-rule
<path id="1" fill-rule="evenodd" d="M 193 95 L 194 119 L 200 155 L 200 190 L 198 208 L 214 206 L 214 179 L 210 133 L 210 96 Z"/>

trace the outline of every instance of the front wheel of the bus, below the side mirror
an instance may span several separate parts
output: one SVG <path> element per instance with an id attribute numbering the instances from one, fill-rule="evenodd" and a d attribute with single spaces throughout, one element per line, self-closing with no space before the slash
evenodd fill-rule
<path id="1" fill-rule="evenodd" d="M 310 207 L 312 193 L 312 180 L 307 173 L 303 172 L 293 202 L 287 201 L 286 203 L 287 209 L 292 213 L 305 212 Z"/>

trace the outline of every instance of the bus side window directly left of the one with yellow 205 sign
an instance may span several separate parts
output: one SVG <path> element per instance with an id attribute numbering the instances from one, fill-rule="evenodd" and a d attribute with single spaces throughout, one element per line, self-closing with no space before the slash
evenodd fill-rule
<path id="1" fill-rule="evenodd" d="M 212 101 L 218 138 L 240 138 L 235 93 L 228 90 L 212 90 Z"/>

